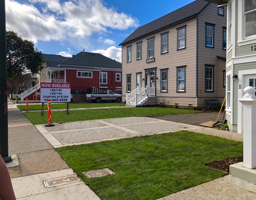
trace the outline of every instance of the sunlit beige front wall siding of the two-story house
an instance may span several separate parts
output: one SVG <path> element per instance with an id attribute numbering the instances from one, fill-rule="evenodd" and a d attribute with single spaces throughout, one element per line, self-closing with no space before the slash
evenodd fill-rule
<path id="1" fill-rule="evenodd" d="M 177 51 L 177 28 L 186 25 L 186 49 Z M 122 94 L 125 99 L 126 94 L 126 74 L 132 74 L 132 91 L 136 87 L 136 73 L 142 72 L 142 78 L 145 78 L 145 69 L 157 68 L 156 70 L 156 95 L 157 104 L 160 104 L 163 98 L 169 100 L 166 105 L 174 105 L 176 102 L 181 106 L 196 104 L 196 26 L 197 19 L 189 19 L 173 27 L 148 35 L 127 45 L 122 46 Z M 160 34 L 168 32 L 168 53 L 160 54 L 161 37 Z M 155 37 L 154 57 L 155 62 L 146 63 L 147 59 L 147 40 Z M 142 59 L 136 60 L 136 43 L 142 41 Z M 132 61 L 126 63 L 126 47 L 132 45 Z M 186 92 L 177 93 L 177 69 L 176 66 L 186 65 Z M 160 93 L 160 70 L 168 68 L 168 93 Z M 145 86 L 145 81 L 142 81 Z M 188 98 L 189 97 L 189 98 Z M 171 100 L 172 99 L 172 100 Z M 169 102 L 169 103 L 167 103 Z"/>

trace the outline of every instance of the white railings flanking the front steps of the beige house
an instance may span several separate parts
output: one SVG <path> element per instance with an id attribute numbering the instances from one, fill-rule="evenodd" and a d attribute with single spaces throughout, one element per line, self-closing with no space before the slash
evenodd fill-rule
<path id="1" fill-rule="evenodd" d="M 126 105 L 135 104 L 137 106 L 140 102 L 146 101 L 146 97 L 152 97 L 156 95 L 155 87 L 137 87 L 130 94 L 126 94 Z"/>

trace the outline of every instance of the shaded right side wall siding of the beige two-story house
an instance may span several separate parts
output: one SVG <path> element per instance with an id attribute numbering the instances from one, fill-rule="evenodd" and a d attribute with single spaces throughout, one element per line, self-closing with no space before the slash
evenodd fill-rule
<path id="1" fill-rule="evenodd" d="M 217 56 L 226 57 L 223 50 L 223 27 L 226 27 L 227 8 L 224 8 L 224 16 L 218 15 L 216 4 L 210 4 L 199 15 L 198 20 L 198 106 L 204 106 L 204 99 L 219 99 L 222 103 L 225 97 L 225 87 L 223 87 L 223 70 L 225 61 Z M 214 24 L 214 48 L 205 47 L 205 27 L 206 24 Z M 214 93 L 205 92 L 205 64 L 214 66 Z"/>

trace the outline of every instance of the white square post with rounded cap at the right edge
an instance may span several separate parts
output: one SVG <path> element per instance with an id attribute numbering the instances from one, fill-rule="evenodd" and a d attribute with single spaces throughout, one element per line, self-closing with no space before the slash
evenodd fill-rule
<path id="1" fill-rule="evenodd" d="M 244 167 L 256 168 L 256 96 L 254 87 L 244 88 L 245 95 L 239 101 L 243 106 Z"/>

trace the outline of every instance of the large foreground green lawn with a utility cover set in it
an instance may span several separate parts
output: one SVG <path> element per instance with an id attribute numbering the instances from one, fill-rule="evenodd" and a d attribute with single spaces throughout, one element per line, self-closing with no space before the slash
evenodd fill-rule
<path id="1" fill-rule="evenodd" d="M 148 200 L 226 175 L 204 163 L 242 155 L 243 143 L 180 131 L 56 150 L 102 200 Z M 116 174 L 82 174 L 102 168 Z"/>

